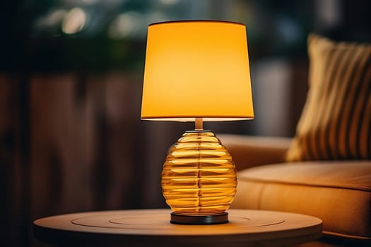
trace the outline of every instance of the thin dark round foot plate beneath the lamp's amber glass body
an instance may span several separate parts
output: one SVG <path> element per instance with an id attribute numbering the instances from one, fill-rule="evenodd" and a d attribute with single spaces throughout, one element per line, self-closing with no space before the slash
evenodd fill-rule
<path id="1" fill-rule="evenodd" d="M 224 224 L 228 223 L 228 212 L 218 215 L 181 215 L 172 212 L 170 223 L 172 224 Z"/>

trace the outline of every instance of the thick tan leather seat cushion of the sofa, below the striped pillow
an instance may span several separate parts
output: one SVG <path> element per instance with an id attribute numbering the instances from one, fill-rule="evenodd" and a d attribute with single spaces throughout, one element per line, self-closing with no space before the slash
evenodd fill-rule
<path id="1" fill-rule="evenodd" d="M 300 162 L 238 173 L 234 208 L 278 210 L 323 220 L 324 234 L 371 240 L 371 162 Z"/>

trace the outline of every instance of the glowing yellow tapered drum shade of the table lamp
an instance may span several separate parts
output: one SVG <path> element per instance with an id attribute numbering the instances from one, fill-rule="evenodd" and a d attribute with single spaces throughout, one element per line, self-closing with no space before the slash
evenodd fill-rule
<path id="1" fill-rule="evenodd" d="M 141 119 L 254 118 L 246 27 L 192 20 L 148 26 Z"/>

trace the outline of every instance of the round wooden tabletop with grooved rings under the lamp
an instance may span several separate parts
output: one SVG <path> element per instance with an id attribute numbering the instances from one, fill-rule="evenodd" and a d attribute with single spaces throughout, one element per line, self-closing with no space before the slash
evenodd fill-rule
<path id="1" fill-rule="evenodd" d="M 57 246 L 289 246 L 322 236 L 322 220 L 263 210 L 229 210 L 229 223 L 170 224 L 170 210 L 81 212 L 37 219 L 36 239 Z"/>

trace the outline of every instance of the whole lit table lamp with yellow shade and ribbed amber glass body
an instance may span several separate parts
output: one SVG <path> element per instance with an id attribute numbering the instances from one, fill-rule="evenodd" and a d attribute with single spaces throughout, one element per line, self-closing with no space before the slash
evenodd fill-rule
<path id="1" fill-rule="evenodd" d="M 253 119 L 246 27 L 187 20 L 148 26 L 141 119 L 194 121 L 163 164 L 174 224 L 228 222 L 237 176 L 228 150 L 203 121 Z"/>

